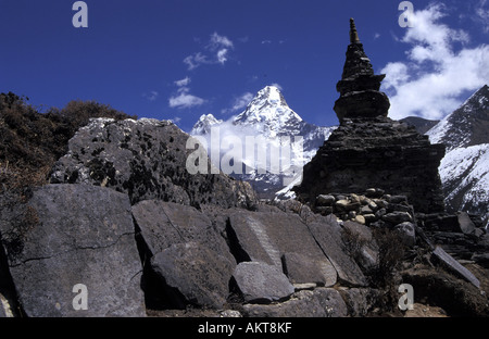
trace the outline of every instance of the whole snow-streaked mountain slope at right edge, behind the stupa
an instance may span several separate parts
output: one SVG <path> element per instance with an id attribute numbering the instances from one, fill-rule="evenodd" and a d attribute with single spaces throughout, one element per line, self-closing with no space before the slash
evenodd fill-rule
<path id="1" fill-rule="evenodd" d="M 480 214 L 489 221 L 489 87 L 476 91 L 457 110 L 426 133 L 444 143 L 439 172 L 449 211 Z"/>

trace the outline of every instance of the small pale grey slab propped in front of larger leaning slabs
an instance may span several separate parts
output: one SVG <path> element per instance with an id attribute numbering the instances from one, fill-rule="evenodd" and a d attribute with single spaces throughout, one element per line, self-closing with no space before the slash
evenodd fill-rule
<path id="1" fill-rule="evenodd" d="M 233 277 L 246 302 L 279 301 L 294 291 L 287 276 L 266 263 L 242 262 L 236 266 Z"/>

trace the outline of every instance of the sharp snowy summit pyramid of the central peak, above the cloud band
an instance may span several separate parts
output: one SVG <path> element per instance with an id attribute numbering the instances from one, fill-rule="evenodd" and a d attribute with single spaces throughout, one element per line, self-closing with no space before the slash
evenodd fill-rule
<path id="1" fill-rule="evenodd" d="M 277 87 L 266 86 L 256 93 L 244 112 L 234 120 L 234 123 L 237 125 L 265 125 L 269 129 L 280 133 L 284 128 L 296 127 L 302 123 L 302 118 L 289 108 Z"/>

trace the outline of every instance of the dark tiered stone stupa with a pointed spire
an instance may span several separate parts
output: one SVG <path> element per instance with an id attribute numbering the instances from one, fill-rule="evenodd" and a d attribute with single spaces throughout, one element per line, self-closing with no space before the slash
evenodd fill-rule
<path id="1" fill-rule="evenodd" d="M 378 188 L 406 196 L 416 212 L 444 211 L 438 166 L 443 145 L 431 145 L 404 123 L 389 118 L 390 102 L 350 20 L 350 45 L 337 90 L 340 126 L 304 166 L 298 199 L 315 206 L 318 194 L 362 193 Z"/>

